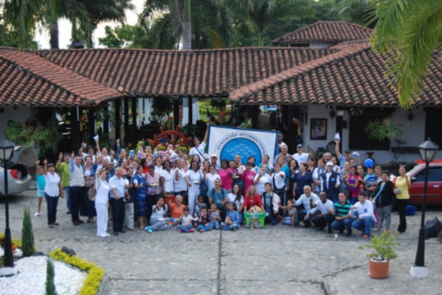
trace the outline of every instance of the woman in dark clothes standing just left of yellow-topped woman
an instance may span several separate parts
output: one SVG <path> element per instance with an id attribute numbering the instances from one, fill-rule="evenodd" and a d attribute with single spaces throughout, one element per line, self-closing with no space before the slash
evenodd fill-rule
<path id="1" fill-rule="evenodd" d="M 378 209 L 379 224 L 374 231 L 381 231 L 385 220 L 385 232 L 390 230 L 392 222 L 392 209 L 394 204 L 393 182 L 390 181 L 390 173 L 382 171 L 382 182 L 377 184 L 376 196 L 374 202 Z"/>

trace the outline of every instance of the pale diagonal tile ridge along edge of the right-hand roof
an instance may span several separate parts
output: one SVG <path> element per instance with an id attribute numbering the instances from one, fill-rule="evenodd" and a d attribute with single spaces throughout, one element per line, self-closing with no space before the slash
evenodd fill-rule
<path id="1" fill-rule="evenodd" d="M 300 75 L 302 73 L 309 73 L 309 71 L 319 68 L 320 66 L 323 66 L 324 64 L 328 64 L 329 62 L 335 62 L 340 59 L 343 59 L 344 57 L 347 57 L 349 55 L 354 55 L 355 53 L 359 53 L 363 50 L 367 50 L 371 48 L 369 44 L 365 46 L 353 46 L 348 48 L 342 48 L 337 53 L 332 53 L 331 55 L 327 55 L 325 57 L 321 57 L 320 59 L 314 59 L 311 61 L 308 61 L 305 64 L 300 64 L 299 66 L 295 66 L 294 68 L 290 68 L 289 70 L 284 70 L 280 73 L 277 73 L 275 75 L 271 75 L 270 77 L 267 77 L 265 79 L 262 79 L 258 82 L 254 82 L 251 84 L 244 85 L 232 93 L 229 94 L 229 99 L 235 101 L 240 99 L 240 97 L 243 97 L 244 95 L 251 95 L 257 91 L 262 91 L 266 88 L 269 88 L 275 84 L 279 84 L 281 82 L 284 82 L 287 79 L 292 79 L 296 77 L 297 75 Z"/>

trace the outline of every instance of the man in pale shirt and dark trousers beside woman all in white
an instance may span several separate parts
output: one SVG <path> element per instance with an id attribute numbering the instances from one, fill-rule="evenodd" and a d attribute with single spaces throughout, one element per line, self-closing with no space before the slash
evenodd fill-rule
<path id="1" fill-rule="evenodd" d="M 113 234 L 118 236 L 118 233 L 125 233 L 124 225 L 124 198 L 129 196 L 126 189 L 126 184 L 123 178 L 123 169 L 118 167 L 115 169 L 115 175 L 109 180 L 109 202 L 111 202 L 112 216 L 113 216 Z"/>

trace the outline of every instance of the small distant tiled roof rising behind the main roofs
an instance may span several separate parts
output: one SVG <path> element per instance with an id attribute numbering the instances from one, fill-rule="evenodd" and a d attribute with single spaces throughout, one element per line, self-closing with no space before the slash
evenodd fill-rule
<path id="1" fill-rule="evenodd" d="M 272 41 L 280 43 L 345 42 L 367 40 L 372 30 L 347 21 L 318 21 Z"/>

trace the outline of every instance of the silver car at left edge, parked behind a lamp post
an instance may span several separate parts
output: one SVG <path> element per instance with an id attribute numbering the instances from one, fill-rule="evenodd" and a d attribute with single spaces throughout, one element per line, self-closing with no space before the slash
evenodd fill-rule
<path id="1" fill-rule="evenodd" d="M 5 196 L 5 162 L 0 162 L 0 198 Z M 32 177 L 29 175 L 28 166 L 8 161 L 8 193 L 21 193 L 29 189 Z"/>

